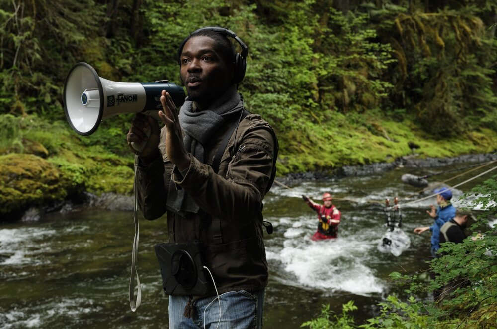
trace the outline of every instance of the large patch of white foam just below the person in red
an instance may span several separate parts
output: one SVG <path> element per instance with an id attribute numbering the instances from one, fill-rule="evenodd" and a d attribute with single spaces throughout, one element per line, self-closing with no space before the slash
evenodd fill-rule
<path id="1" fill-rule="evenodd" d="M 365 255 L 375 249 L 375 241 L 361 241 L 361 237 L 353 236 L 312 241 L 316 221 L 309 217 L 280 218 L 277 222 L 277 225 L 290 227 L 283 233 L 282 247 L 267 248 L 267 258 L 281 262 L 284 270 L 276 280 L 286 285 L 319 289 L 325 295 L 346 291 L 368 296 L 384 291 L 384 284 L 365 264 Z"/>

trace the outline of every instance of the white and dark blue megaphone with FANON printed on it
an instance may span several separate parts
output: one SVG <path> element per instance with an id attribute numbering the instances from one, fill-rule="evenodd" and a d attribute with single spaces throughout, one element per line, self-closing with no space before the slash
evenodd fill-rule
<path id="1" fill-rule="evenodd" d="M 183 105 L 183 88 L 168 80 L 115 82 L 100 78 L 91 65 L 76 63 L 64 83 L 64 111 L 71 128 L 80 135 L 93 134 L 100 121 L 123 113 L 162 109 L 161 91 L 166 90 L 176 107 Z"/>

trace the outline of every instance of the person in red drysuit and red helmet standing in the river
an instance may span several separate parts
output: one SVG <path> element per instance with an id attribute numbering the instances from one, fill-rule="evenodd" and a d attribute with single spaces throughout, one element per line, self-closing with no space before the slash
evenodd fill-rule
<path id="1" fill-rule="evenodd" d="M 319 223 L 318 230 L 311 237 L 311 240 L 323 240 L 336 238 L 338 233 L 338 224 L 340 224 L 341 213 L 331 204 L 331 194 L 323 194 L 323 204 L 311 200 L 309 197 L 302 195 L 302 199 L 318 213 Z"/>

